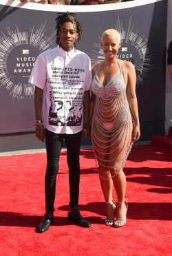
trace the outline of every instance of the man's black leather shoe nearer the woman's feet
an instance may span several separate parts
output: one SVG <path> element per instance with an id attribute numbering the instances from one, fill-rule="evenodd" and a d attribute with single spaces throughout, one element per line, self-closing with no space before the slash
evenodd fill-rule
<path id="1" fill-rule="evenodd" d="M 83 216 L 80 215 L 80 211 L 77 208 L 69 209 L 68 219 L 76 221 L 80 226 L 85 226 L 89 228 L 91 223 L 89 223 Z"/>

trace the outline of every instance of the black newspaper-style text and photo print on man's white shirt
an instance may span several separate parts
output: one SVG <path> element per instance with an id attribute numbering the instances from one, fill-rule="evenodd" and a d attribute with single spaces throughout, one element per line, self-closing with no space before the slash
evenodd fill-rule
<path id="1" fill-rule="evenodd" d="M 67 73 L 66 67 L 64 69 L 54 67 L 54 70 L 58 71 L 53 71 L 54 75 L 49 78 L 51 105 L 48 123 L 53 126 L 80 126 L 83 118 L 82 85 L 85 80 L 85 70 L 70 68 L 70 75 L 64 75 Z"/>

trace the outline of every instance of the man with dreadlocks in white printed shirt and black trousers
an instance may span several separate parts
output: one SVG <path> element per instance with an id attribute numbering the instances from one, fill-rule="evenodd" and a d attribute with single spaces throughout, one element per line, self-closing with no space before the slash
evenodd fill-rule
<path id="1" fill-rule="evenodd" d="M 75 40 L 79 41 L 82 28 L 74 15 L 76 14 L 69 12 L 58 15 L 57 47 L 38 56 L 29 80 L 29 83 L 35 85 L 36 138 L 43 142 L 45 140 L 47 150 L 46 212 L 39 225 L 40 233 L 47 231 L 54 222 L 56 175 L 63 139 L 67 146 L 69 167 L 68 218 L 81 226 L 91 226 L 78 211 L 78 196 L 80 141 L 83 132 L 86 137 L 90 134 L 89 89 L 92 68 L 87 54 L 76 50 Z M 41 116 L 42 106 L 44 122 Z"/>

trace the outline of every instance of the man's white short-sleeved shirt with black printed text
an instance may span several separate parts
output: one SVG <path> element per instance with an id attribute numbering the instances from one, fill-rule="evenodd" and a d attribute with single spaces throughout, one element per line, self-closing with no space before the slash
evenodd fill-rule
<path id="1" fill-rule="evenodd" d="M 56 134 L 76 134 L 83 129 L 83 95 L 91 89 L 89 56 L 61 47 L 36 58 L 29 83 L 44 90 L 45 127 Z"/>

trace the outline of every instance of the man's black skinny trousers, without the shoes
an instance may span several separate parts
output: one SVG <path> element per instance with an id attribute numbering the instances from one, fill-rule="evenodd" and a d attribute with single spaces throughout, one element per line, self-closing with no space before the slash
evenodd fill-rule
<path id="1" fill-rule="evenodd" d="M 45 206 L 46 211 L 54 211 L 56 193 L 56 175 L 59 169 L 59 158 L 63 147 L 63 138 L 67 146 L 67 164 L 69 167 L 69 207 L 78 208 L 80 182 L 80 142 L 82 131 L 77 134 L 54 134 L 45 129 L 45 144 L 47 149 L 47 170 L 45 173 Z"/>

